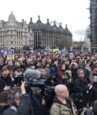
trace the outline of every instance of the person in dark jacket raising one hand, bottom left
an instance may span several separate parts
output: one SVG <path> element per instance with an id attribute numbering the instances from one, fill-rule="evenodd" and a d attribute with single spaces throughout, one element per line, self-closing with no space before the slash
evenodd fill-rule
<path id="1" fill-rule="evenodd" d="M 30 99 L 26 94 L 25 83 L 21 85 L 21 92 L 12 92 L 10 107 L 4 111 L 3 115 L 30 115 Z"/>

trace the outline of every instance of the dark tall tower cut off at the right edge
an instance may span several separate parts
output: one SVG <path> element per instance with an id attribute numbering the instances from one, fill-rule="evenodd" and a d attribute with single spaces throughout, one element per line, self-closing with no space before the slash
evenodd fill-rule
<path id="1" fill-rule="evenodd" d="M 97 50 L 97 0 L 90 0 L 91 49 Z"/>

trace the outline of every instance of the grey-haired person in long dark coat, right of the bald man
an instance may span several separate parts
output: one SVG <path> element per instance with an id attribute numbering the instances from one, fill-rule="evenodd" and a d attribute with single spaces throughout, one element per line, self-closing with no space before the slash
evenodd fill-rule
<path id="1" fill-rule="evenodd" d="M 83 69 L 78 69 L 78 78 L 74 83 L 75 103 L 78 109 L 82 109 L 87 103 L 87 90 L 89 82 L 85 77 Z"/>

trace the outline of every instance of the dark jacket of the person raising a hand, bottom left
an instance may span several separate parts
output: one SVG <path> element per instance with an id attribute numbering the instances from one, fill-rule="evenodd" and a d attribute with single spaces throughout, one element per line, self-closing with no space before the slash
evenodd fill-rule
<path id="1" fill-rule="evenodd" d="M 27 94 L 22 95 L 19 107 L 11 106 L 4 111 L 3 115 L 30 115 L 30 99 Z"/>

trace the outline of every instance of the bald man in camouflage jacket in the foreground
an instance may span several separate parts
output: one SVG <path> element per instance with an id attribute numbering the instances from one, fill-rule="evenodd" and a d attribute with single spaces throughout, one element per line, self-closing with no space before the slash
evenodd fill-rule
<path id="1" fill-rule="evenodd" d="M 77 115 L 77 109 L 69 100 L 69 91 L 65 85 L 55 87 L 56 98 L 52 104 L 50 115 Z"/>

